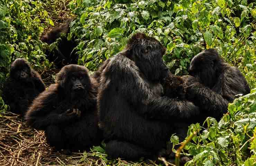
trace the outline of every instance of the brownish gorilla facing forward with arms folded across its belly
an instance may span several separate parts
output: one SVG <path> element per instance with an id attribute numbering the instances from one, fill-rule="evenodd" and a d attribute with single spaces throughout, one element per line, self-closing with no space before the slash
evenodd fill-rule
<path id="1" fill-rule="evenodd" d="M 97 87 L 86 67 L 67 65 L 57 74 L 56 83 L 34 100 L 25 119 L 33 128 L 45 130 L 56 150 L 87 150 L 101 139 Z"/>

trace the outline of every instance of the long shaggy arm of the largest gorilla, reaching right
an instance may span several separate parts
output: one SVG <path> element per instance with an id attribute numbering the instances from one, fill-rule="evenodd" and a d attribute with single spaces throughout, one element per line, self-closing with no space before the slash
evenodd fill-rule
<path id="1" fill-rule="evenodd" d="M 139 70 L 136 70 L 136 66 L 126 65 L 121 71 L 120 68 L 113 67 L 111 74 L 107 73 L 107 75 L 110 75 L 110 80 L 115 82 L 113 82 L 115 85 L 110 84 L 109 88 L 118 86 L 121 96 L 134 105 L 136 111 L 146 118 L 187 119 L 199 113 L 198 107 L 191 102 L 154 95 L 140 76 Z"/>

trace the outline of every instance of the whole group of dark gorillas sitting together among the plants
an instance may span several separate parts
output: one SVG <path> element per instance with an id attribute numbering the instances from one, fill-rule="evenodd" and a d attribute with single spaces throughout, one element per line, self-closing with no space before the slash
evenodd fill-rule
<path id="1" fill-rule="evenodd" d="M 42 41 L 54 42 L 68 30 L 68 22 Z M 172 134 L 183 141 L 191 123 L 209 116 L 220 120 L 235 95 L 250 88 L 238 68 L 214 49 L 196 55 L 190 75 L 181 77 L 168 70 L 164 54 L 155 38 L 137 33 L 92 76 L 86 67 L 67 65 L 47 90 L 38 73 L 18 58 L 11 65 L 4 101 L 11 111 L 24 114 L 34 100 L 25 119 L 44 130 L 57 150 L 87 150 L 104 136 L 111 158 L 173 157 L 172 145 L 166 144 Z"/>

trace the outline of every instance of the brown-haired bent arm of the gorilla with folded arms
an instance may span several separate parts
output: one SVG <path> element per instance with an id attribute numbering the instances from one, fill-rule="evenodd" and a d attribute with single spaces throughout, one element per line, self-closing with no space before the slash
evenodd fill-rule
<path id="1" fill-rule="evenodd" d="M 60 111 L 58 109 L 65 107 L 56 108 L 57 104 L 64 104 L 64 102 L 58 102 L 57 89 L 57 84 L 53 84 L 33 101 L 25 116 L 27 124 L 35 129 L 44 130 L 49 125 L 62 125 L 79 118 L 79 110 L 72 112 L 66 107 L 66 110 Z"/>

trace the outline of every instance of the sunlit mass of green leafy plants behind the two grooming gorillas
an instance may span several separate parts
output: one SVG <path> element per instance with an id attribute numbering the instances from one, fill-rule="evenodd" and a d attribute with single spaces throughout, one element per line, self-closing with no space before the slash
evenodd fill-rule
<path id="1" fill-rule="evenodd" d="M 246 0 L 73 0 L 70 8 L 77 15 L 70 38 L 79 41 L 79 64 L 90 70 L 138 31 L 164 44 L 164 60 L 175 74 L 187 74 L 191 58 L 205 48 L 216 48 L 245 72 L 255 61 L 256 9 Z"/>

